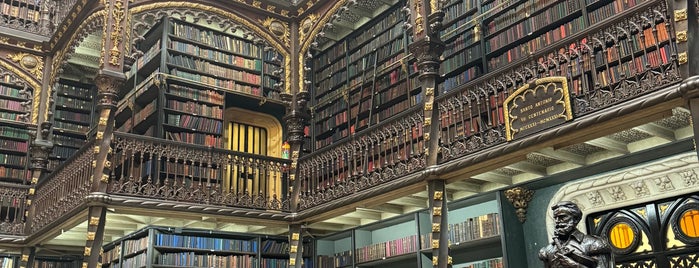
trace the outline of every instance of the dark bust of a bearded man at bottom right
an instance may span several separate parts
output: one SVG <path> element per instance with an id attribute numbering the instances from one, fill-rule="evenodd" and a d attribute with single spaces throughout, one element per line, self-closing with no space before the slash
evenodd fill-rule
<path id="1" fill-rule="evenodd" d="M 611 268 L 611 247 L 606 240 L 576 228 L 582 218 L 578 205 L 562 201 L 551 207 L 554 237 L 539 251 L 546 268 Z"/>

